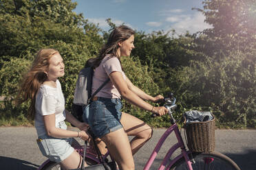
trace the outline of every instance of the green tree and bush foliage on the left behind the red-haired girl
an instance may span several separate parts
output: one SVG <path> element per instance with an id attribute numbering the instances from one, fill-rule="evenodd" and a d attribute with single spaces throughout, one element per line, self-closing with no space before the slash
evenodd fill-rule
<path id="1" fill-rule="evenodd" d="M 12 99 L 36 51 L 46 47 L 58 49 L 65 60 L 60 80 L 70 108 L 78 71 L 96 55 L 103 40 L 96 25 L 72 11 L 75 7 L 71 0 L 0 1 L 0 96 L 7 97 L 0 105 L 1 117 L 25 115 L 28 104 L 15 107 Z"/>

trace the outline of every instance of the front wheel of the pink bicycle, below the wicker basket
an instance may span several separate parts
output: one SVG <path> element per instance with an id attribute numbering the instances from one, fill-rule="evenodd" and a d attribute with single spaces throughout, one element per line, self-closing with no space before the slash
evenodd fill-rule
<path id="1" fill-rule="evenodd" d="M 193 153 L 193 170 L 240 170 L 233 160 L 224 154 L 213 153 Z M 171 170 L 189 170 L 184 158 L 178 160 Z"/>

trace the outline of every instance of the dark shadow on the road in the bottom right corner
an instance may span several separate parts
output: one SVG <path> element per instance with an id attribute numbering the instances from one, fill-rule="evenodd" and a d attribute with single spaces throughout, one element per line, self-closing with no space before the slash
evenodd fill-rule
<path id="1" fill-rule="evenodd" d="M 256 167 L 256 149 L 246 149 L 243 154 L 222 153 L 231 158 L 240 169 L 255 169 Z"/>

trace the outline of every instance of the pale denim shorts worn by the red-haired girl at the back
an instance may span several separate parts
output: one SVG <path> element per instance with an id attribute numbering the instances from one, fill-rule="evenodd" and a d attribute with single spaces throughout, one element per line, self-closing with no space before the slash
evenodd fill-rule
<path id="1" fill-rule="evenodd" d="M 67 129 L 67 125 L 64 121 L 58 123 L 58 127 L 64 130 Z M 43 156 L 46 156 L 54 162 L 65 160 L 65 158 L 69 157 L 74 151 L 74 148 L 71 146 L 72 138 L 54 138 L 45 134 L 39 136 L 36 141 Z"/>

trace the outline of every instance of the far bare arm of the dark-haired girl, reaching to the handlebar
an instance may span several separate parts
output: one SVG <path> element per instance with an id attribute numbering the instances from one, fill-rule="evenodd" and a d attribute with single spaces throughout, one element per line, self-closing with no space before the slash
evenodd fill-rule
<path id="1" fill-rule="evenodd" d="M 147 95 L 147 93 L 140 90 L 140 88 L 138 88 L 137 86 L 134 86 L 134 84 L 128 79 L 128 77 L 126 78 L 126 82 L 127 82 L 128 88 L 142 99 L 145 99 L 147 101 L 156 102 L 159 99 L 164 98 L 164 97 L 162 97 L 162 95 L 157 95 L 156 97 L 152 97 L 151 95 Z"/>

